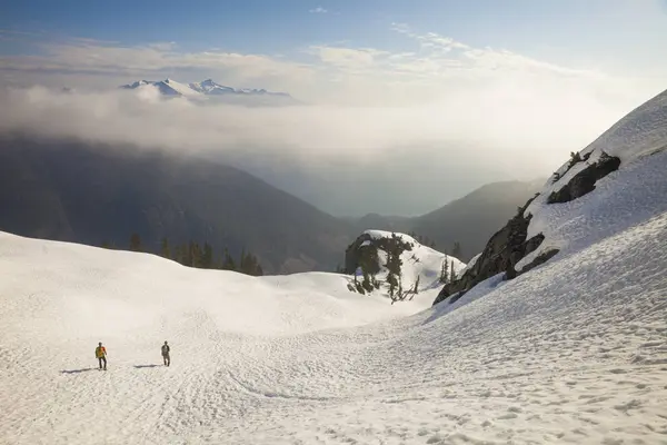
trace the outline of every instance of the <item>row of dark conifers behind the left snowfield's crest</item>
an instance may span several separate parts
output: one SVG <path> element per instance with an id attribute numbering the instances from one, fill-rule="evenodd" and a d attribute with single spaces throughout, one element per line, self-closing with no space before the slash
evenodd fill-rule
<path id="1" fill-rule="evenodd" d="M 102 247 L 108 249 L 115 248 L 109 241 L 102 243 Z M 217 256 L 209 243 L 201 245 L 197 241 L 189 241 L 171 245 L 169 239 L 165 237 L 160 241 L 160 250 L 150 251 L 141 243 L 139 234 L 132 234 L 129 240 L 129 250 L 156 254 L 180 263 L 183 266 L 196 267 L 198 269 L 233 270 L 256 277 L 263 275 L 257 256 L 246 251 L 246 249 L 241 250 L 238 259 L 235 259 L 227 248 L 222 249 L 222 254 Z"/>

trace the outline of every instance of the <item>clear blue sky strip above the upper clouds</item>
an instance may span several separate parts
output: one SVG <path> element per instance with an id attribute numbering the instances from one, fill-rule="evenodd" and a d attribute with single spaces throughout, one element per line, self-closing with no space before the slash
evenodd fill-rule
<path id="1" fill-rule="evenodd" d="M 0 2 L 0 29 L 36 40 L 88 38 L 119 44 L 176 42 L 182 50 L 292 55 L 309 44 L 407 49 L 392 22 L 579 68 L 645 69 L 667 41 L 665 0 L 250 0 Z M 312 10 L 326 10 L 312 13 Z M 14 36 L 16 37 L 16 36 Z M 31 49 L 27 34 L 4 53 Z M 7 39 L 6 39 L 7 40 Z M 34 50 L 34 49 L 32 49 Z"/>

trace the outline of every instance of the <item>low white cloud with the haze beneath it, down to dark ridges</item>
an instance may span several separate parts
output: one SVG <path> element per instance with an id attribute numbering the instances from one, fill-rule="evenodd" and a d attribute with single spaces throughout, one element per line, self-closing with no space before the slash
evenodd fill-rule
<path id="1" fill-rule="evenodd" d="M 629 110 L 579 92 L 505 83 L 412 107 L 249 108 L 150 87 L 36 87 L 2 92 L 0 131 L 218 156 L 326 210 L 416 214 L 492 180 L 546 177 Z M 350 202 L 339 181 L 368 201 Z"/>

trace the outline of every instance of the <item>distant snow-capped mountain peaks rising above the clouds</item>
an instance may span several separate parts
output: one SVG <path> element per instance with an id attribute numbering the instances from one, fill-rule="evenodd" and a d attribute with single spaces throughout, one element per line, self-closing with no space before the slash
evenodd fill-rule
<path id="1" fill-rule="evenodd" d="M 253 88 L 232 88 L 215 82 L 212 79 L 206 79 L 201 82 L 192 82 L 189 85 L 177 82 L 172 79 L 165 80 L 138 80 L 133 83 L 123 85 L 122 89 L 138 89 L 148 86 L 156 87 L 162 95 L 168 97 L 186 97 L 186 98 L 268 98 L 279 99 L 285 102 L 296 102 L 296 100 L 287 92 L 273 92 L 266 89 Z"/>

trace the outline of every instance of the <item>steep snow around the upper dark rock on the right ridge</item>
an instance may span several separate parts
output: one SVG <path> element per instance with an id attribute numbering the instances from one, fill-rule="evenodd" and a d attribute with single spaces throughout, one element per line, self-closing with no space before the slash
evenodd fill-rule
<path id="1" fill-rule="evenodd" d="M 620 159 L 617 171 L 577 199 L 549 204 L 551 194 L 605 157 Z M 532 216 L 528 238 L 542 234 L 545 240 L 517 264 L 517 270 L 549 250 L 569 255 L 667 211 L 667 91 L 620 119 L 579 158 L 564 164 L 526 208 L 524 215 Z"/>

